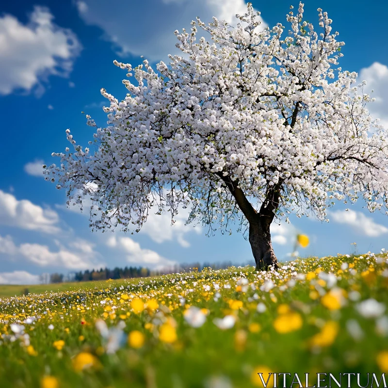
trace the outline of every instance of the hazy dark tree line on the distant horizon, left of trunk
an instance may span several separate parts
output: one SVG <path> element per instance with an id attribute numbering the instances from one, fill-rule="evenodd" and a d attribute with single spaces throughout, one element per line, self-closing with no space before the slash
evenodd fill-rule
<path id="1" fill-rule="evenodd" d="M 42 277 L 43 283 L 62 283 L 63 281 L 77 281 L 77 282 L 85 282 L 91 280 L 108 280 L 108 279 L 126 279 L 133 277 L 148 277 L 148 276 L 156 276 L 156 275 L 166 275 L 166 274 L 174 274 L 181 272 L 191 272 L 191 271 L 202 271 L 204 268 L 211 268 L 213 270 L 224 269 L 232 266 L 231 262 L 223 262 L 223 263 L 210 263 L 206 262 L 204 264 L 194 263 L 194 264 L 176 264 L 174 266 L 165 267 L 161 270 L 150 270 L 146 267 L 124 267 L 119 268 L 115 267 L 113 269 L 110 268 L 100 268 L 99 270 L 85 270 L 75 272 L 69 275 L 64 275 L 60 273 L 53 273 L 47 276 L 45 274 L 45 279 Z M 49 279 L 48 279 L 49 277 Z"/>

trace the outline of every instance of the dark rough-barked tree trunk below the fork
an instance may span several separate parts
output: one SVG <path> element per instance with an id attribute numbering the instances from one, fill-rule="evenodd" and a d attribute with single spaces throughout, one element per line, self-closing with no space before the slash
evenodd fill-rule
<path id="1" fill-rule="evenodd" d="M 256 271 L 277 268 L 277 259 L 271 242 L 270 224 L 258 214 L 257 220 L 249 223 L 249 242 L 256 261 Z"/>

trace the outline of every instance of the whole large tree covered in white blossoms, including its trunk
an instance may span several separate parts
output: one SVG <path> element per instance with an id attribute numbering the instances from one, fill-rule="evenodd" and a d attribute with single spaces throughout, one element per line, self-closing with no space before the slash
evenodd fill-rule
<path id="1" fill-rule="evenodd" d="M 67 129 L 75 152 L 53 154 L 61 166 L 45 171 L 67 188 L 68 204 L 91 197 L 92 227 L 139 231 L 150 209 L 174 222 L 190 207 L 188 223 L 211 232 L 238 222 L 257 268 L 268 268 L 277 262 L 275 218 L 325 220 L 333 198 L 360 194 L 371 211 L 387 205 L 387 133 L 368 113 L 363 85 L 352 86 L 357 74 L 337 66 L 344 43 L 332 20 L 318 9 L 316 32 L 301 3 L 284 37 L 282 24 L 261 28 L 258 15 L 248 4 L 236 28 L 197 18 L 190 33 L 175 32 L 182 56 L 157 72 L 146 60 L 133 69 L 114 61 L 136 82 L 123 81 L 121 102 L 101 90 L 111 125 L 89 142 L 97 150 L 83 150 Z M 209 41 L 196 39 L 197 27 Z"/>

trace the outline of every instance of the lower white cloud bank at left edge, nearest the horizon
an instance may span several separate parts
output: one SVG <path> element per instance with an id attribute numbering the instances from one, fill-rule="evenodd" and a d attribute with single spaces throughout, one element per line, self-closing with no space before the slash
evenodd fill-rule
<path id="1" fill-rule="evenodd" d="M 75 240 L 69 244 L 69 248 L 59 244 L 59 250 L 51 251 L 47 245 L 37 243 L 23 243 L 16 246 L 10 236 L 0 236 L 0 254 L 22 257 L 40 267 L 61 267 L 72 270 L 90 269 L 92 267 L 105 266 L 96 261 L 96 252 L 93 244 L 84 240 Z"/>

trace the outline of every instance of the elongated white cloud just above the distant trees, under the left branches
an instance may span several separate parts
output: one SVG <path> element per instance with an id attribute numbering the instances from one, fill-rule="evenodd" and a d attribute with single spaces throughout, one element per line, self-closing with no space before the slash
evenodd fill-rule
<path id="1" fill-rule="evenodd" d="M 163 258 L 151 249 L 144 249 L 138 242 L 129 237 L 110 237 L 106 244 L 111 248 L 118 248 L 127 254 L 127 260 L 136 265 L 143 265 L 152 269 L 162 269 L 176 264 L 175 261 Z"/>

